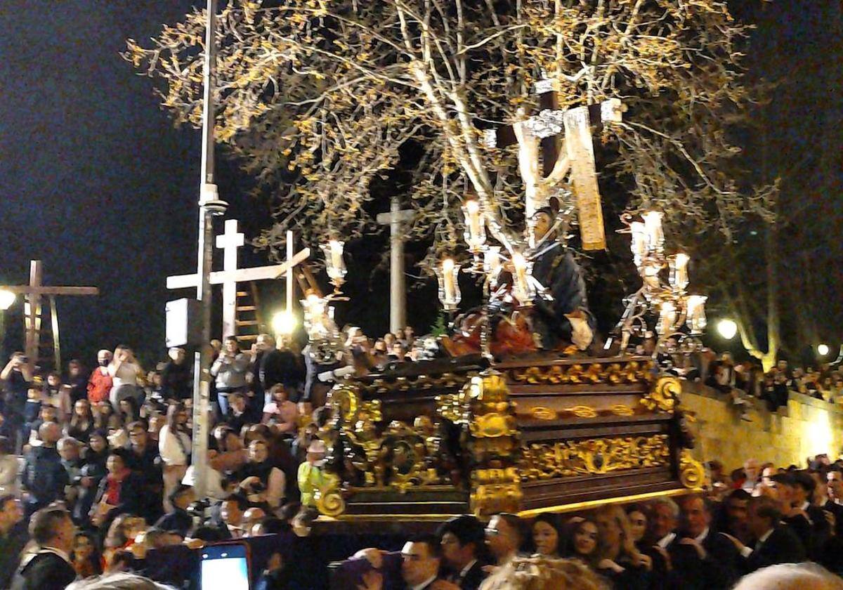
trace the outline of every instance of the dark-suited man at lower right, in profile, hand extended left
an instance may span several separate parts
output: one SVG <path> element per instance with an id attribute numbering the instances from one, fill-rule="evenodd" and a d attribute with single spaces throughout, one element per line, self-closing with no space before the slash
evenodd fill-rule
<path id="1" fill-rule="evenodd" d="M 781 524 L 781 512 L 772 498 L 752 498 L 749 501 L 747 522 L 756 539 L 754 547 L 747 547 L 738 539 L 730 537 L 742 556 L 741 569 L 744 573 L 779 563 L 797 563 L 808 559 L 802 541 L 787 524 Z"/>

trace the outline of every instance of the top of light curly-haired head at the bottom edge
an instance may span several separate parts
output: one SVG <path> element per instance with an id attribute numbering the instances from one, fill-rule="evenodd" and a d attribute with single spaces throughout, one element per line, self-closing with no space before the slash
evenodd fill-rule
<path id="1" fill-rule="evenodd" d="M 608 584 L 582 561 L 545 555 L 516 557 L 481 586 L 511 590 L 609 590 Z"/>

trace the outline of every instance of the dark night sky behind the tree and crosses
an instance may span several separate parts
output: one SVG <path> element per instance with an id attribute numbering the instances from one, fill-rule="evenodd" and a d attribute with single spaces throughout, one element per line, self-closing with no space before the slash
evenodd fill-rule
<path id="1" fill-rule="evenodd" d="M 59 300 L 65 359 L 82 357 L 90 364 L 98 348 L 126 343 L 146 364 L 157 360 L 164 354 L 164 303 L 191 295 L 167 292 L 164 277 L 196 268 L 200 134 L 176 129 L 158 107 L 152 81 L 138 76 L 118 55 L 126 38 L 148 40 L 191 4 L 3 0 L 0 282 L 26 282 L 29 260 L 40 258 L 46 284 L 100 288 L 99 298 Z M 830 8 L 834 0 L 776 4 L 757 34 L 776 59 L 756 60 L 755 66 L 792 68 L 791 81 L 806 83 L 808 90 L 786 91 L 808 103 L 804 108 L 810 112 L 803 115 L 811 117 L 811 125 L 839 124 L 840 110 L 825 117 L 822 101 L 840 88 L 826 86 L 819 94 L 810 90 L 830 81 L 824 66 L 840 68 L 835 59 L 840 56 L 839 5 Z M 792 12 L 790 7 L 797 5 L 799 12 Z M 828 20 L 831 13 L 836 21 Z M 832 46 L 824 46 L 826 41 Z M 798 150 L 810 148 L 811 129 L 793 131 L 791 126 L 788 133 L 795 134 L 790 139 Z M 839 144 L 832 148 L 840 152 Z M 222 157 L 217 163 L 221 196 L 232 203 L 229 217 L 241 221 L 247 239 L 255 236 L 269 223 L 267 204 L 243 196 L 244 179 L 233 163 Z M 836 174 L 838 184 L 830 186 L 839 186 L 840 171 Z M 839 193 L 829 204 L 839 211 Z M 835 231 L 839 234 L 839 228 Z M 362 324 L 371 333 L 388 324 L 388 276 L 371 273 L 384 244 L 383 238 L 374 238 L 356 255 L 352 250 L 357 259 L 349 266 L 352 272 L 354 264 L 359 269 L 352 287 L 358 297 L 341 310 L 341 322 Z M 244 250 L 241 265 L 266 263 L 262 253 Z M 824 283 L 830 281 L 825 298 L 839 298 L 839 266 L 836 259 L 835 269 L 823 276 Z M 266 291 L 269 312 L 281 291 L 278 286 Z M 423 302 L 430 308 L 433 293 L 431 287 L 411 293 L 411 308 Z M 7 312 L 7 351 L 22 341 L 22 308 L 19 299 Z M 435 309 L 426 309 L 411 314 L 411 320 L 424 331 L 433 316 Z"/>

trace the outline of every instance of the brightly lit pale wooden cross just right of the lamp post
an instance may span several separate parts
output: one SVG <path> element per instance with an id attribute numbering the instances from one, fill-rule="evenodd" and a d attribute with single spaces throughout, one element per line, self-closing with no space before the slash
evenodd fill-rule
<path id="1" fill-rule="evenodd" d="M 237 283 L 265 281 L 287 276 L 287 292 L 293 289 L 290 280 L 291 270 L 307 260 L 310 249 L 304 248 L 296 254 L 287 249 L 287 261 L 280 265 L 238 268 L 238 249 L 245 243 L 244 234 L 237 231 L 237 220 L 225 222 L 225 233 L 217 236 L 217 248 L 223 250 L 223 270 L 211 273 L 211 284 L 223 286 L 223 338 L 237 335 Z M 196 288 L 199 277 L 196 275 L 178 275 L 167 277 L 168 289 Z"/>

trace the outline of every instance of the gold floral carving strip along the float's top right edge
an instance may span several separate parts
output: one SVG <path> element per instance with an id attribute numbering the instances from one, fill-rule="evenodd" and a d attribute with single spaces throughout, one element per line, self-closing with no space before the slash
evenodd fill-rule
<path id="1" fill-rule="evenodd" d="M 509 370 L 509 378 L 515 383 L 529 385 L 568 383 L 649 383 L 652 381 L 652 362 L 593 362 L 588 366 L 549 365 L 546 367 L 518 367 Z"/>

